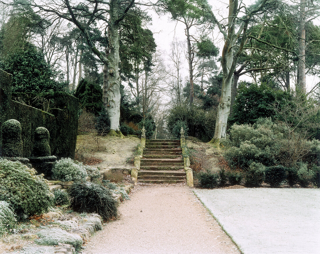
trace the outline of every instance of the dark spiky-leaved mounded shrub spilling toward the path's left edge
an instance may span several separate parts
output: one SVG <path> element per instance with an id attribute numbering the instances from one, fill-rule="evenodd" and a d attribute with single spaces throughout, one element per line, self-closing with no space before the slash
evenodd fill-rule
<path id="1" fill-rule="evenodd" d="M 104 220 L 117 217 L 116 200 L 101 184 L 74 182 L 68 190 L 70 206 L 79 213 L 98 213 Z"/>

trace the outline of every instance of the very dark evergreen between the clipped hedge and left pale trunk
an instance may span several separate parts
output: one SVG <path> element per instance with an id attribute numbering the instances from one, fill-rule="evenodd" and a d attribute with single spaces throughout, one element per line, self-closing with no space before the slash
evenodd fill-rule
<path id="1" fill-rule="evenodd" d="M 79 99 L 81 107 L 95 116 L 103 109 L 102 88 L 97 83 L 82 79 L 77 86 L 75 97 Z"/>

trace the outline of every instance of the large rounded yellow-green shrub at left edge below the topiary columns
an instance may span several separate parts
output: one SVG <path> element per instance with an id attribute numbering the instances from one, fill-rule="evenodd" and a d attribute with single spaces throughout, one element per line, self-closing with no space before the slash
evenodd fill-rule
<path id="1" fill-rule="evenodd" d="M 0 160 L 0 200 L 11 204 L 15 213 L 40 214 L 53 203 L 53 194 L 42 175 L 18 161 Z"/>

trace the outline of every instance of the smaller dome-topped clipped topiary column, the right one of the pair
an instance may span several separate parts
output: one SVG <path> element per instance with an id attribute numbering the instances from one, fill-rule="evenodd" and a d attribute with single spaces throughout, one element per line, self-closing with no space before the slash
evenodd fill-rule
<path id="1" fill-rule="evenodd" d="M 44 127 L 38 127 L 35 130 L 35 143 L 33 146 L 33 156 L 50 156 L 49 131 Z"/>

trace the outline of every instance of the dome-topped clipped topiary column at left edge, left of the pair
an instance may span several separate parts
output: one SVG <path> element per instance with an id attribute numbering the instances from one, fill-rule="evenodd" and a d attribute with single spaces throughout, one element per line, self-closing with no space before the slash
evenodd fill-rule
<path id="1" fill-rule="evenodd" d="M 21 124 L 15 119 L 5 121 L 1 126 L 3 157 L 22 157 Z"/>

